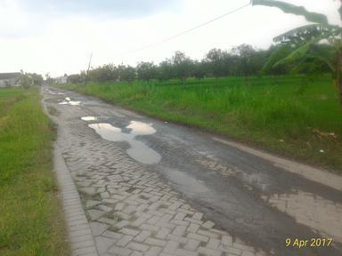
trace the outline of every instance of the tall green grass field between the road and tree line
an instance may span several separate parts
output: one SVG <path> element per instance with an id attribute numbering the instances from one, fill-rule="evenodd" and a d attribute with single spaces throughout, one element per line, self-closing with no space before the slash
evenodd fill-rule
<path id="1" fill-rule="evenodd" d="M 329 76 L 66 84 L 160 119 L 189 124 L 342 172 L 342 108 Z M 333 134 L 327 134 L 331 133 Z"/>

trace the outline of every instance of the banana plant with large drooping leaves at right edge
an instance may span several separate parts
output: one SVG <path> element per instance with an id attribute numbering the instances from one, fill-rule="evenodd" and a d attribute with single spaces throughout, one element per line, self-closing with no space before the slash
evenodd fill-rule
<path id="1" fill-rule="evenodd" d="M 340 2 L 341 7 L 338 12 L 342 20 L 342 0 Z M 281 46 L 278 51 L 273 52 L 273 56 L 267 61 L 267 68 L 298 63 L 308 56 L 321 60 L 330 68 L 342 105 L 342 28 L 330 24 L 326 15 L 308 12 L 303 6 L 276 0 L 252 0 L 251 3 L 252 5 L 276 7 L 282 12 L 303 16 L 305 20 L 311 22 L 309 25 L 291 29 L 273 38 L 273 41 L 280 43 Z M 327 53 L 317 50 L 320 49 L 319 44 L 322 42 L 330 44 L 331 51 Z M 283 55 L 283 52 L 286 52 L 284 48 L 291 49 L 286 56 Z M 277 59 L 277 56 L 281 56 L 281 60 Z"/>

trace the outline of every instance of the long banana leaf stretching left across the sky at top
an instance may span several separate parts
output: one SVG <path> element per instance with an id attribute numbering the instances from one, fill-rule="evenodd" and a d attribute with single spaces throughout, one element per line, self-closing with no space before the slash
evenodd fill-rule
<path id="1" fill-rule="evenodd" d="M 308 12 L 303 6 L 297 6 L 294 4 L 288 4 L 275 0 L 252 0 L 252 4 L 277 7 L 281 9 L 282 12 L 304 16 L 307 21 L 320 24 L 328 24 L 327 16 L 317 12 Z"/>

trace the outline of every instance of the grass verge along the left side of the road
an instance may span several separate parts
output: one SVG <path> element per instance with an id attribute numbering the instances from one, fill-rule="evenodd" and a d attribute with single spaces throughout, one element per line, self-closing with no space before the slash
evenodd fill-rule
<path id="1" fill-rule="evenodd" d="M 0 255 L 69 255 L 38 88 L 0 89 Z"/>

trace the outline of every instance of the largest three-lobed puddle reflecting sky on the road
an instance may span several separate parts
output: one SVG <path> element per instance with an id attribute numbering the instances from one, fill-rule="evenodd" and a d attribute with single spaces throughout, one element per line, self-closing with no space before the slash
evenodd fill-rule
<path id="1" fill-rule="evenodd" d="M 126 128 L 131 129 L 130 133 L 121 132 L 121 129 L 111 124 L 88 124 L 93 128 L 104 140 L 110 141 L 126 141 L 130 148 L 127 154 L 142 164 L 157 164 L 161 156 L 153 149 L 147 147 L 142 141 L 135 140 L 137 135 L 151 135 L 156 130 L 151 124 L 132 121 Z"/>

